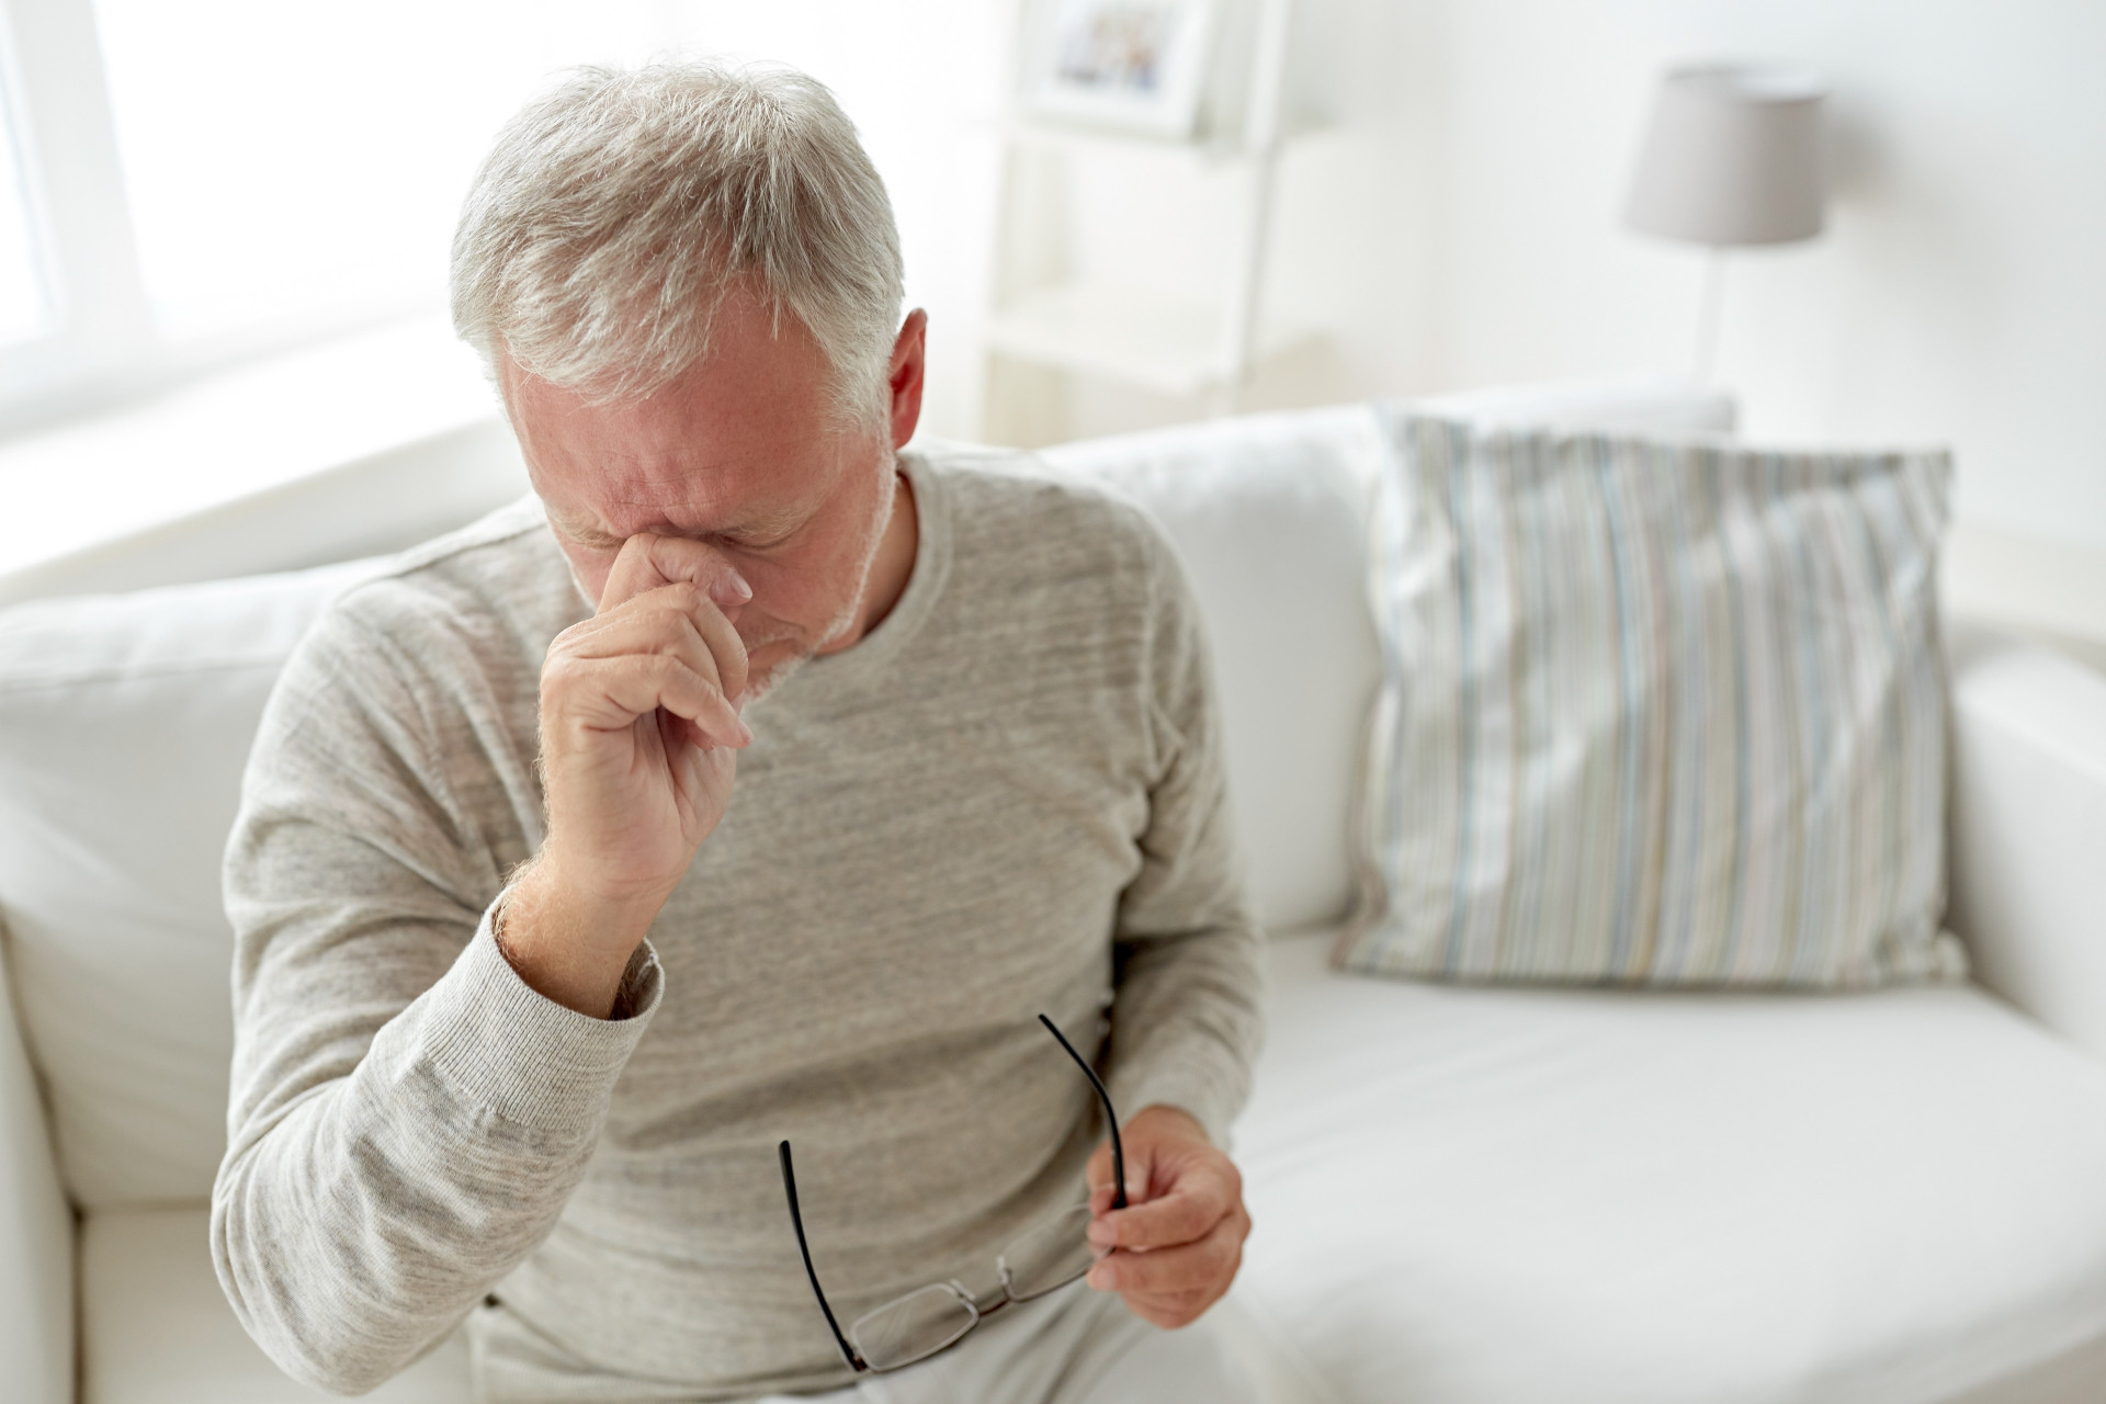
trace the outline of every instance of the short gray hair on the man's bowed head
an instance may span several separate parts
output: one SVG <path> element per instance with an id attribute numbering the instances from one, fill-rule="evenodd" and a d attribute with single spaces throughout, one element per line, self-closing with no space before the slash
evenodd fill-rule
<path id="1" fill-rule="evenodd" d="M 899 229 L 855 124 L 792 69 L 571 69 L 497 135 L 453 236 L 461 339 L 594 402 L 701 360 L 735 288 L 804 324 L 847 421 L 882 423 Z"/>

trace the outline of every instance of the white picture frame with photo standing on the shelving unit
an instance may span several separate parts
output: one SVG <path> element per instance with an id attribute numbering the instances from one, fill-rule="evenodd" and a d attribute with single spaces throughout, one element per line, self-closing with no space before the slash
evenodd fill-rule
<path id="1" fill-rule="evenodd" d="M 1036 0 L 1024 116 L 1192 139 L 1217 8 L 1219 0 Z"/>

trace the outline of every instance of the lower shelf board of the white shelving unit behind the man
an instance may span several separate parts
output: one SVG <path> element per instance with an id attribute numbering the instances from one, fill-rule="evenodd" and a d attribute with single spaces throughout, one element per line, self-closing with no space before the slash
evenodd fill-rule
<path id="1" fill-rule="evenodd" d="M 1068 282 L 996 312 L 988 345 L 1057 370 L 1131 381 L 1165 396 L 1196 396 L 1228 381 L 1219 318 L 1219 307 L 1200 299 Z M 1308 328 L 1259 333 L 1253 360 L 1285 352 L 1308 335 Z"/>

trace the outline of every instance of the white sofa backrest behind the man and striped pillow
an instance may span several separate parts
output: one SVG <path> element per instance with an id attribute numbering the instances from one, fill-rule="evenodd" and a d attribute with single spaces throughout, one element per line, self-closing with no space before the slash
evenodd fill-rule
<path id="1" fill-rule="evenodd" d="M 1590 419 L 1731 417 L 1716 396 L 1624 392 L 1594 396 Z M 1561 402 L 1556 417 L 1580 415 Z M 1276 926 L 1335 918 L 1377 669 L 1360 541 L 1379 417 L 1259 415 L 1049 459 L 1137 499 L 1173 539 L 1213 636 L 1253 895 Z M 211 1194 L 232 1050 L 219 855 L 242 764 L 293 644 L 377 568 L 0 610 L 0 935 L 84 1208 Z"/>

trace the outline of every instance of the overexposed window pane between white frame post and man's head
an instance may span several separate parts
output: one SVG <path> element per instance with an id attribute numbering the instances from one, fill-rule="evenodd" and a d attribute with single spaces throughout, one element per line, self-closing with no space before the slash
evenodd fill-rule
<path id="1" fill-rule="evenodd" d="M 558 67 L 642 57 L 657 23 L 651 0 L 95 13 L 141 278 L 171 341 L 442 305 L 495 128 Z"/>

